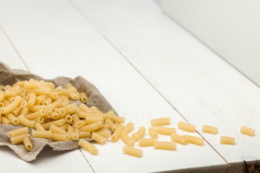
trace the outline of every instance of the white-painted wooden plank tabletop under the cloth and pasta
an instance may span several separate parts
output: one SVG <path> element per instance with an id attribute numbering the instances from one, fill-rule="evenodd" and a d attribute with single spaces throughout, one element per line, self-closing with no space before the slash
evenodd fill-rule
<path id="1" fill-rule="evenodd" d="M 178 121 L 197 125 L 193 135 L 206 140 L 204 146 L 178 145 L 176 151 L 145 147 L 142 158 L 123 154 L 122 141 L 97 144 L 97 156 L 83 149 L 46 148 L 31 163 L 0 147 L 1 171 L 236 173 L 260 159 L 260 88 L 154 1 L 0 0 L 0 25 L 0 60 L 11 68 L 46 79 L 81 75 L 119 115 L 135 123 L 133 131 L 169 116 L 171 126 Z M 203 124 L 219 127 L 219 133 L 202 133 Z M 257 134 L 241 134 L 243 125 Z M 236 144 L 219 144 L 220 135 L 234 136 Z"/>

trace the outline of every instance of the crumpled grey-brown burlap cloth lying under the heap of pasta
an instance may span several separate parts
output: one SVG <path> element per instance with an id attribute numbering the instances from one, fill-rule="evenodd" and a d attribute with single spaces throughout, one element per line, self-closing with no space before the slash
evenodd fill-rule
<path id="1" fill-rule="evenodd" d="M 12 70 L 3 62 L 0 61 L 0 85 L 13 85 L 18 81 L 24 81 L 29 79 L 35 80 L 45 80 L 40 76 L 31 74 L 23 70 Z M 114 110 L 112 106 L 107 102 L 100 91 L 90 82 L 82 78 L 81 76 L 75 79 L 70 79 L 66 77 L 56 77 L 52 80 L 45 80 L 55 84 L 55 86 L 65 87 L 67 83 L 71 83 L 74 87 L 78 89 L 79 92 L 86 92 L 88 96 L 87 106 L 96 106 L 103 112 Z M 23 143 L 12 145 L 10 143 L 10 138 L 7 136 L 7 132 L 10 130 L 18 129 L 23 127 L 22 125 L 2 125 L 0 124 L 0 146 L 8 146 L 11 148 L 22 160 L 26 162 L 31 162 L 36 159 L 37 155 L 43 150 L 47 145 L 52 147 L 53 150 L 73 150 L 79 147 L 78 141 L 64 141 L 58 142 L 52 139 L 45 138 L 32 138 L 33 150 L 28 151 L 25 149 Z M 32 134 L 32 129 L 30 129 L 30 134 Z M 87 139 L 93 142 L 92 139 Z"/>

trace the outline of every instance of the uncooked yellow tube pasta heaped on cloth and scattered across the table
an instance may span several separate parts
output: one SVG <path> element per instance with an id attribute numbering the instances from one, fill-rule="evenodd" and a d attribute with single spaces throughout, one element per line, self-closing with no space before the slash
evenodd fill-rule
<path id="1" fill-rule="evenodd" d="M 70 104 L 70 100 L 79 100 L 80 105 Z M 92 154 L 98 154 L 98 148 L 85 140 L 92 138 L 104 144 L 108 137 L 112 142 L 119 138 L 126 144 L 123 152 L 129 155 L 142 157 L 143 150 L 134 148 L 138 141 L 140 147 L 154 146 L 155 149 L 176 150 L 177 143 L 203 145 L 204 139 L 192 135 L 179 135 L 175 128 L 163 127 L 170 125 L 170 118 L 151 120 L 148 132 L 151 138 L 143 138 L 145 127 L 129 136 L 134 124 L 125 123 L 125 118 L 115 115 L 113 111 L 103 113 L 97 107 L 88 107 L 85 103 L 88 97 L 85 92 L 79 93 L 70 83 L 65 88 L 55 87 L 51 82 L 29 81 L 17 82 L 13 86 L 0 86 L 0 124 L 21 124 L 19 128 L 8 132 L 11 144 L 24 143 L 27 150 L 33 149 L 31 137 L 51 138 L 56 141 L 79 140 L 78 144 Z M 196 132 L 196 126 L 178 122 L 178 128 L 185 131 Z M 29 128 L 33 128 L 32 136 Z M 203 126 L 203 132 L 216 134 L 215 127 Z M 242 127 L 244 134 L 253 136 L 255 130 Z M 169 135 L 172 142 L 158 141 L 158 133 Z M 235 138 L 220 136 L 221 144 L 234 144 Z"/>

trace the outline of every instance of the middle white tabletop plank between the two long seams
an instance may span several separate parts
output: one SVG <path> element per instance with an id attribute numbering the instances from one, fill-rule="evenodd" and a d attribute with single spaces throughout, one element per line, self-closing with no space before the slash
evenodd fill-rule
<path id="1" fill-rule="evenodd" d="M 0 2 L 0 16 L 0 22 L 33 73 L 45 78 L 83 76 L 100 89 L 127 122 L 135 123 L 135 130 L 149 127 L 153 118 L 170 116 L 174 126 L 177 121 L 184 121 L 69 2 Z M 25 39 L 26 46 L 22 43 Z M 35 58 L 36 55 L 40 58 Z M 169 140 L 168 136 L 160 138 Z M 100 153 L 95 156 L 82 149 L 97 173 L 156 172 L 225 164 L 207 143 L 202 147 L 178 145 L 177 151 L 155 151 L 148 147 L 144 148 L 142 158 L 123 154 L 121 141 L 97 146 Z M 114 166 L 115 161 L 120 167 Z"/>

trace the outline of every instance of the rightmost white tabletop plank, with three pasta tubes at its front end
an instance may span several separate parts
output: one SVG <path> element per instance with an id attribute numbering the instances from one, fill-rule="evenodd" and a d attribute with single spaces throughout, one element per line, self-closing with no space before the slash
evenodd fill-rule
<path id="1" fill-rule="evenodd" d="M 228 161 L 260 159 L 260 88 L 165 16 L 149 0 L 72 0 L 104 36 Z M 250 137 L 241 126 L 256 129 Z M 219 136 L 236 145 L 219 144 Z M 247 158 L 247 159 L 246 159 Z"/>

